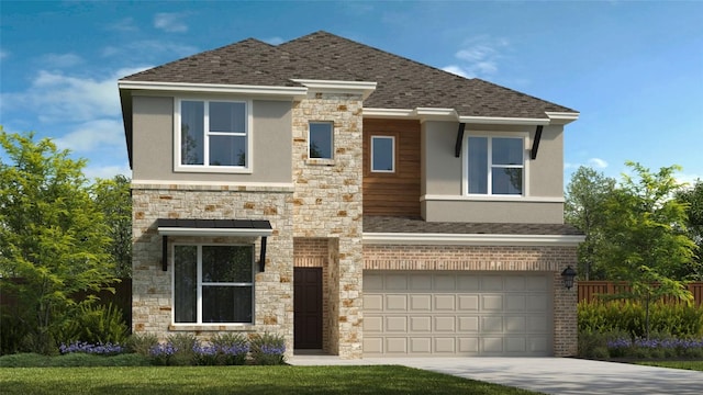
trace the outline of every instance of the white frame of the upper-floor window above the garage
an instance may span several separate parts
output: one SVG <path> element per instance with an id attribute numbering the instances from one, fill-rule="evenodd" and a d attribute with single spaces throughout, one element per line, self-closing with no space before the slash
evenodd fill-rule
<path id="1" fill-rule="evenodd" d="M 488 189 L 487 193 L 469 193 L 469 137 L 486 137 L 489 139 L 488 142 Z M 492 193 L 492 138 L 518 138 L 523 140 L 523 166 L 495 166 L 495 167 L 505 167 L 505 168 L 522 168 L 523 169 L 523 191 L 522 194 L 493 194 Z M 476 200 L 495 200 L 495 199 L 506 199 L 506 200 L 520 200 L 529 196 L 529 155 L 527 154 L 527 144 L 528 144 L 528 132 L 471 132 L 464 138 L 464 146 L 461 149 L 461 193 L 464 196 L 469 196 Z"/>

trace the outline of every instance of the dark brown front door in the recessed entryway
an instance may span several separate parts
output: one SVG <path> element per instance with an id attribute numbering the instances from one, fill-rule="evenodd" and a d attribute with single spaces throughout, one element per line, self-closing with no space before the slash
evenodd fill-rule
<path id="1" fill-rule="evenodd" d="M 322 268 L 294 268 L 293 347 L 322 349 Z"/>

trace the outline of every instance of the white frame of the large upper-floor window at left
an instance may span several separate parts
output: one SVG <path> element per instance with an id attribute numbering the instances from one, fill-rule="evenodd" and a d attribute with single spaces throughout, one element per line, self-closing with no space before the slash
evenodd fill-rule
<path id="1" fill-rule="evenodd" d="M 181 163 L 181 102 L 183 101 L 199 101 L 204 103 L 203 110 L 203 165 L 182 165 Z M 246 108 L 246 132 L 244 133 L 224 133 L 224 132 L 210 132 L 210 102 L 224 102 L 224 103 L 244 103 Z M 182 97 L 175 98 L 174 102 L 174 171 L 175 172 L 216 172 L 216 173 L 252 173 L 254 171 L 254 138 L 253 138 L 253 125 L 254 115 L 252 111 L 253 101 L 246 99 L 234 98 L 199 98 L 199 97 Z M 210 136 L 241 136 L 246 137 L 247 153 L 246 153 L 246 166 L 212 166 L 210 162 Z"/>

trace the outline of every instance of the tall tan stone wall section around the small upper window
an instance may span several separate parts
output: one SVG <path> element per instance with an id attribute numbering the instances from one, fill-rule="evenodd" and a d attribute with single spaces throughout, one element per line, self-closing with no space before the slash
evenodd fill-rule
<path id="1" fill-rule="evenodd" d="M 293 235 L 331 238 L 328 340 L 345 359 L 362 353 L 361 106 L 359 94 L 314 93 L 292 109 Z M 333 122 L 333 159 L 308 158 L 311 121 Z"/>

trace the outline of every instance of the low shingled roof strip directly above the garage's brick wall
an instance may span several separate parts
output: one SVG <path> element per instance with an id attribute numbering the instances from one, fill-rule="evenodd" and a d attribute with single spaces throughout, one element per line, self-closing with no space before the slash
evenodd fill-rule
<path id="1" fill-rule="evenodd" d="M 578 236 L 583 233 L 565 224 L 492 224 L 425 222 L 421 217 L 364 216 L 364 233 L 411 233 L 457 235 L 554 235 Z"/>

